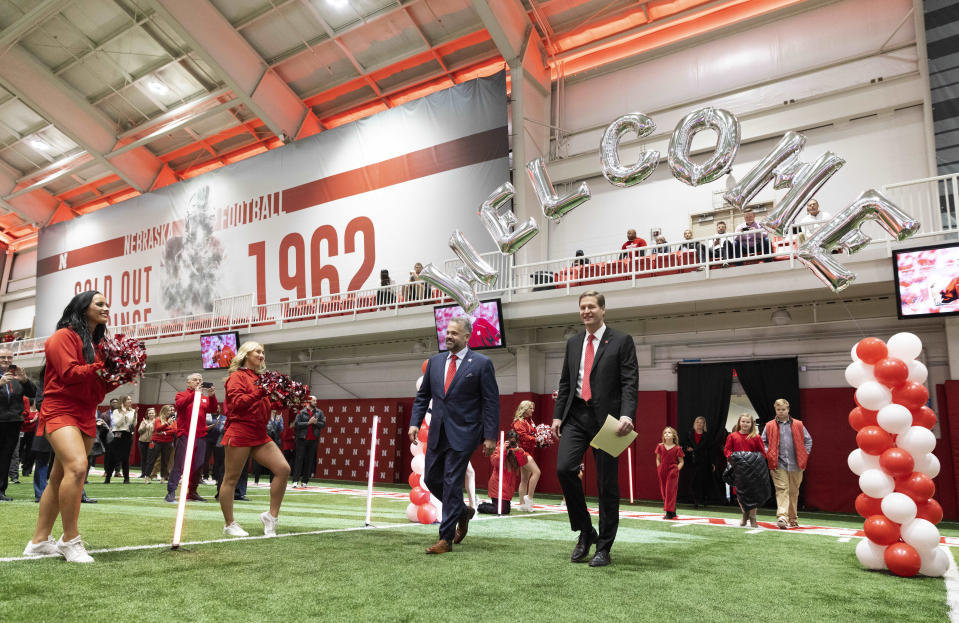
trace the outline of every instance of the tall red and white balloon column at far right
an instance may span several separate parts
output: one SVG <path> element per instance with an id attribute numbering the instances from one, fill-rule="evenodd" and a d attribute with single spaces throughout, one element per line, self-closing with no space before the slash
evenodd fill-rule
<path id="1" fill-rule="evenodd" d="M 858 449 L 849 469 L 862 493 L 856 511 L 866 533 L 856 557 L 868 569 L 889 569 L 903 577 L 942 576 L 949 553 L 939 547 L 942 507 L 933 499 L 939 474 L 930 430 L 936 414 L 926 406 L 926 366 L 916 357 L 922 341 L 897 333 L 888 342 L 867 337 L 852 349 L 846 380 L 856 388 L 849 424 Z"/>

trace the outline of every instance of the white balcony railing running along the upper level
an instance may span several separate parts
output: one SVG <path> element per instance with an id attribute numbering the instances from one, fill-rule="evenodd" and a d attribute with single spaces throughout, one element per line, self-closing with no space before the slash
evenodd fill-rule
<path id="1" fill-rule="evenodd" d="M 959 174 L 890 184 L 883 191 L 908 214 L 922 223 L 914 238 L 938 237 L 955 239 Z M 700 273 L 709 278 L 719 270 L 763 262 L 798 262 L 796 249 L 807 231 L 796 227 L 788 236 L 765 237 L 758 233 L 728 233 L 628 250 L 613 250 L 586 257 L 570 257 L 528 264 L 513 264 L 512 256 L 487 253 L 484 258 L 497 270 L 499 278 L 493 286 L 479 285 L 481 298 L 505 297 L 544 290 L 570 290 L 580 286 L 620 283 L 627 287 L 642 279 L 682 273 Z M 891 248 L 888 236 L 876 237 L 873 244 Z M 914 246 L 911 240 L 909 245 Z M 444 270 L 453 274 L 459 260 L 447 260 Z M 265 305 L 253 303 L 253 295 L 245 294 L 214 302 L 213 312 L 179 318 L 168 318 L 112 328 L 113 333 L 135 336 L 145 341 L 181 338 L 201 333 L 280 327 L 289 323 L 352 321 L 374 312 L 399 313 L 400 310 L 423 305 L 451 303 L 444 292 L 417 281 L 325 294 L 307 299 L 285 300 Z M 9 342 L 15 354 L 43 352 L 45 337 Z"/>

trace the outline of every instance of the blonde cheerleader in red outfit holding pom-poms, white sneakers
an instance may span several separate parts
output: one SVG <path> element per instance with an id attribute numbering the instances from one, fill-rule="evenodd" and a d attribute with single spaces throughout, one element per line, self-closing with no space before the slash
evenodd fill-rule
<path id="1" fill-rule="evenodd" d="M 230 362 L 230 376 L 226 379 L 226 427 L 223 431 L 224 471 L 222 491 L 233 491 L 240 473 L 250 457 L 273 473 L 270 483 L 270 510 L 260 514 L 263 533 L 276 536 L 277 516 L 290 478 L 290 465 L 283 458 L 280 447 L 266 433 L 270 418 L 270 399 L 256 384 L 266 370 L 263 346 L 245 342 Z M 226 524 L 223 533 L 230 536 L 249 536 L 233 517 L 233 496 L 220 496 L 220 509 Z"/>

